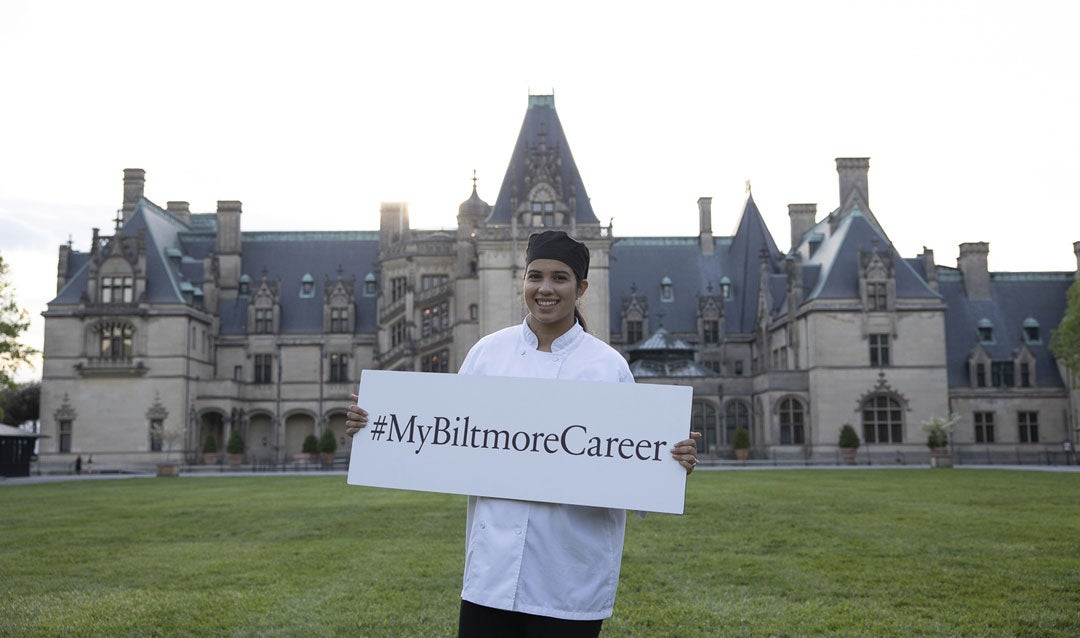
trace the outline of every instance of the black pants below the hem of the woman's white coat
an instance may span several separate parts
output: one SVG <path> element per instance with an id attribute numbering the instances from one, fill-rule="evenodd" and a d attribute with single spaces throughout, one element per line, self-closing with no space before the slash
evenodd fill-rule
<path id="1" fill-rule="evenodd" d="M 604 621 L 566 621 L 461 601 L 458 638 L 596 638 Z"/>

